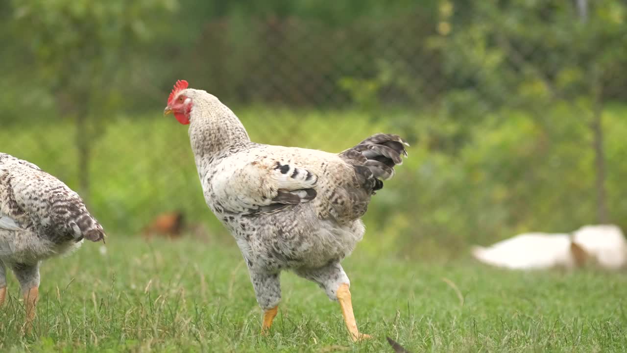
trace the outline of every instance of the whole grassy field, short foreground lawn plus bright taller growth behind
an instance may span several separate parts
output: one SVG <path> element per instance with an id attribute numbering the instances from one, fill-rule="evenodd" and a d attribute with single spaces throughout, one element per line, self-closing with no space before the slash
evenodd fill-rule
<path id="1" fill-rule="evenodd" d="M 339 305 L 290 273 L 282 277 L 275 326 L 269 337 L 259 335 L 261 312 L 246 266 L 206 208 L 186 129 L 159 111 L 115 117 L 93 141 L 88 201 L 109 233 L 107 246 L 85 244 L 43 265 L 32 335 L 19 334 L 24 313 L 11 276 L 11 299 L 0 308 L 0 352 L 392 352 L 386 336 L 413 352 L 627 351 L 626 273 L 514 273 L 465 257 L 472 243 L 540 226 L 571 231 L 593 217 L 593 159 L 582 142 L 589 131 L 568 114 L 556 112 L 549 125 L 555 131 L 548 132 L 516 114 L 494 126 L 488 121 L 472 132 L 480 138 L 453 153 L 441 148 L 456 126 L 445 124 L 438 139 L 440 122 L 409 113 L 375 119 L 258 112 L 238 114 L 265 143 L 340 151 L 378 131 L 413 137 L 411 158 L 373 200 L 366 239 L 344 263 L 357 323 L 374 340 L 352 344 Z M 616 220 L 627 210 L 619 192 L 624 112 L 607 116 Z M 559 143 L 547 142 L 554 138 Z M 0 129 L 0 141 L 1 151 L 77 186 L 82 171 L 71 121 L 14 124 Z M 206 222 L 209 240 L 146 243 L 130 236 L 171 209 L 183 210 L 190 224 Z"/>

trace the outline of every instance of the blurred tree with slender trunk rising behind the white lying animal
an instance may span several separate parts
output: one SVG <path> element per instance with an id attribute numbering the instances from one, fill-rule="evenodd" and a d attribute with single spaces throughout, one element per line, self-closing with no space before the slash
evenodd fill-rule
<path id="1" fill-rule="evenodd" d="M 597 222 L 609 221 L 601 112 L 627 64 L 626 13 L 627 5 L 613 0 L 443 0 L 446 25 L 440 27 L 446 30 L 431 41 L 443 53 L 450 82 L 457 82 L 445 100 L 479 94 L 491 109 L 530 112 L 549 134 L 556 122 L 547 111 L 561 103 L 572 107 L 590 129 Z"/>

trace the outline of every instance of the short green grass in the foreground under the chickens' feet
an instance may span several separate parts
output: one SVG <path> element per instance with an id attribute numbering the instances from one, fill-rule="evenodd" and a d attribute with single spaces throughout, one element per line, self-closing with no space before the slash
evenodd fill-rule
<path id="1" fill-rule="evenodd" d="M 352 344 L 337 303 L 282 276 L 269 337 L 231 239 L 146 243 L 110 234 L 46 261 L 32 335 L 22 303 L 0 309 L 2 352 L 624 352 L 627 277 L 586 269 L 518 273 L 470 259 L 403 261 L 360 253 L 344 262 L 356 317 L 374 340 Z"/>

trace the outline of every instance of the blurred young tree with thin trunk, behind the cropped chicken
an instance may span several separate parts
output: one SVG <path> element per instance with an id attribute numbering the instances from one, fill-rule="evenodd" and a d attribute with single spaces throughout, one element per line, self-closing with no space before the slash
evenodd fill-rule
<path id="1" fill-rule="evenodd" d="M 26 43 L 41 87 L 56 109 L 75 120 L 82 195 L 89 195 L 90 146 L 102 117 L 124 104 L 135 54 L 153 38 L 155 26 L 177 8 L 176 0 L 13 1 L 11 30 Z"/>

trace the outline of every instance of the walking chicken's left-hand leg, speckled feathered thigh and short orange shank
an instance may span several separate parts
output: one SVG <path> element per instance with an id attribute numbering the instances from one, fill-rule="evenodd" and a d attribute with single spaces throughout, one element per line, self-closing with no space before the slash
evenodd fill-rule
<path id="1" fill-rule="evenodd" d="M 267 334 L 272 321 L 277 316 L 278 303 L 281 301 L 280 273 L 266 273 L 263 271 L 250 271 L 250 281 L 255 288 L 257 303 L 263 310 L 263 322 L 261 334 Z"/>

